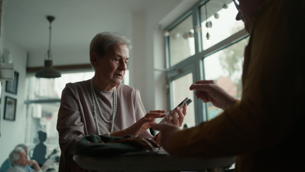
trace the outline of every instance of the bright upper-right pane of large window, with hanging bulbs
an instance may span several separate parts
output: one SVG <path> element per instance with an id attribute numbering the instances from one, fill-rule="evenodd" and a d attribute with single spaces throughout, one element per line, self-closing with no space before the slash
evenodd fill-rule
<path id="1" fill-rule="evenodd" d="M 223 8 L 227 3 L 228 8 Z M 231 35 L 242 30 L 243 22 L 235 20 L 238 13 L 232 0 L 209 1 L 200 7 L 203 50 L 215 45 Z M 207 18 L 207 19 L 206 19 Z M 211 27 L 206 27 L 206 21 L 211 22 Z M 209 33 L 210 41 L 207 41 L 206 34 Z"/>

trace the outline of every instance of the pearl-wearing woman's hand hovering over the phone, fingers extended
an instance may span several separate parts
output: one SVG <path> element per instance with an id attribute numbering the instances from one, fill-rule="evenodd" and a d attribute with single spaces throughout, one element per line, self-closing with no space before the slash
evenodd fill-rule
<path id="1" fill-rule="evenodd" d="M 150 112 L 146 113 L 143 118 L 125 130 L 128 134 L 133 136 L 142 134 L 144 131 L 150 128 L 150 123 L 155 122 L 156 118 L 163 118 L 166 115 L 164 112 L 165 110 L 151 110 Z"/>

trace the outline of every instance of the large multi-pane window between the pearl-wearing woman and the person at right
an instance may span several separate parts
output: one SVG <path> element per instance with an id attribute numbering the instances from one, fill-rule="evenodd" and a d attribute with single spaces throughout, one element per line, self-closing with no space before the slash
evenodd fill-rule
<path id="1" fill-rule="evenodd" d="M 243 51 L 249 35 L 243 22 L 235 20 L 237 13 L 232 0 L 201 0 L 165 28 L 170 31 L 165 39 L 168 104 L 173 106 L 180 99 L 193 97 L 193 107 L 188 106 L 185 120 L 190 127 L 215 118 L 222 111 L 195 98 L 194 92 L 189 93 L 195 81 L 216 80 L 234 97 L 241 96 Z M 189 38 L 184 39 L 186 32 Z"/>

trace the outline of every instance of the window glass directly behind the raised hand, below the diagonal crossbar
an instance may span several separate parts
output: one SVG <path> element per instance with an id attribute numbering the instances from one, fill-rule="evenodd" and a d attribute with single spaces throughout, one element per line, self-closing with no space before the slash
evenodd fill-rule
<path id="1" fill-rule="evenodd" d="M 231 96 L 241 98 L 241 73 L 243 52 L 249 38 L 224 48 L 204 60 L 205 79 L 216 80 Z M 208 103 L 208 119 L 215 118 L 223 110 Z"/>

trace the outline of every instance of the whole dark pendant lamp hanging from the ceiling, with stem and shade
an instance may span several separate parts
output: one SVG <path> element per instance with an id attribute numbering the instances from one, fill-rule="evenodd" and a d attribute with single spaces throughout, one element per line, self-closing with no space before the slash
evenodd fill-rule
<path id="1" fill-rule="evenodd" d="M 49 36 L 49 49 L 46 52 L 45 55 L 45 64 L 44 67 L 42 69 L 40 69 L 37 73 L 36 73 L 36 77 L 39 78 L 57 78 L 62 76 L 62 74 L 60 74 L 60 72 L 53 68 L 53 61 L 52 61 L 52 53 L 51 53 L 51 22 L 55 19 L 53 16 L 47 16 L 48 21 L 50 22 L 50 36 Z"/>

